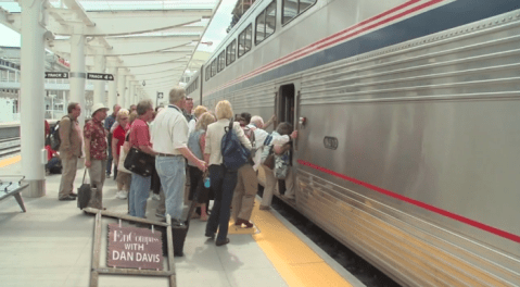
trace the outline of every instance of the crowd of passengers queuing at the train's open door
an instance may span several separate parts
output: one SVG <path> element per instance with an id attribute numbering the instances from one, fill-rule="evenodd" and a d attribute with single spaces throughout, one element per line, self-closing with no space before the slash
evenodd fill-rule
<path id="1" fill-rule="evenodd" d="M 248 112 L 233 116 L 227 100 L 217 103 L 215 115 L 202 105 L 196 107 L 193 113 L 192 109 L 192 99 L 187 98 L 180 87 L 173 88 L 169 104 L 156 111 L 151 100 L 142 100 L 130 107 L 130 111 L 114 105 L 114 112 L 107 117 L 109 109 L 97 103 L 91 109 L 91 120 L 81 133 L 77 123 L 80 107 L 71 103 L 68 115 L 60 123 L 63 175 L 59 199 L 74 200 L 77 197 L 72 183 L 76 176 L 77 160 L 81 157 L 81 141 L 85 144 L 85 165 L 93 190 L 88 207 L 104 209 L 103 185 L 111 175 L 113 160 L 116 198 L 128 198 L 130 215 L 145 217 L 147 200 L 150 190 L 154 189 L 161 194 L 156 215 L 165 221 L 166 214 L 169 214 L 173 224 L 181 225 L 185 187 L 188 187 L 189 200 L 199 203 L 196 216 L 207 221 L 205 235 L 216 237 L 217 246 L 229 242 L 227 233 L 230 217 L 238 227 L 253 227 L 251 214 L 258 191 L 257 173 L 261 165 L 264 165 L 266 186 L 259 209 L 270 209 L 277 183 L 280 188 L 284 186 L 287 199 L 294 199 L 290 150 L 291 140 L 297 137 L 297 133 L 292 132 L 289 123 L 280 123 L 276 132 L 269 134 L 265 128 L 275 122 L 275 116 L 267 123 Z M 240 144 L 251 151 L 248 162 L 238 170 L 224 165 L 221 142 L 228 127 L 232 127 Z M 153 157 L 152 173 L 142 174 L 125 169 L 125 158 L 130 149 Z M 267 163 L 269 158 L 271 163 Z M 157 178 L 155 184 L 152 184 L 152 175 Z M 210 178 L 210 188 L 203 184 L 205 177 Z M 214 199 L 211 211 L 210 199 Z"/>

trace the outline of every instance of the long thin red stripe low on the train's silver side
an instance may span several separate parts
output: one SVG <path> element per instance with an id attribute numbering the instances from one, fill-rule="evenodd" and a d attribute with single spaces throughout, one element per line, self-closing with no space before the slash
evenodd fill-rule
<path id="1" fill-rule="evenodd" d="M 335 177 L 339 177 L 339 178 L 342 178 L 342 179 L 345 179 L 345 180 L 348 180 L 351 183 L 354 183 L 356 185 L 360 185 L 363 187 L 366 187 L 368 189 L 371 189 L 373 191 L 377 191 L 379 194 L 383 194 L 385 196 L 389 196 L 389 197 L 392 197 L 392 198 L 395 198 L 395 199 L 398 199 L 398 200 L 402 200 L 402 201 L 405 201 L 405 202 L 408 202 L 410 204 L 414 204 L 416 207 L 419 207 L 419 208 L 422 208 L 422 209 L 426 209 L 426 210 L 429 210 L 431 212 L 434 212 L 434 213 L 437 213 L 437 214 L 441 214 L 443 216 L 446 216 L 446 217 L 449 217 L 452 220 L 456 220 L 458 222 L 462 222 L 462 223 L 466 223 L 468 225 L 471 225 L 473 227 L 477 227 L 479 229 L 482 229 L 484 232 L 489 232 L 489 233 L 492 233 L 494 235 L 498 235 L 500 237 L 504 237 L 504 238 L 507 238 L 509 240 L 512 240 L 515 242 L 520 242 L 520 236 L 518 235 L 515 235 L 515 234 L 511 234 L 511 233 L 508 233 L 508 232 L 505 232 L 505 230 L 500 230 L 498 228 L 495 228 L 493 226 L 490 226 L 490 225 L 485 225 L 483 223 L 480 223 L 480 222 L 475 222 L 473 220 L 470 220 L 468 217 L 465 217 L 465 216 L 461 216 L 461 215 L 458 215 L 458 214 L 455 214 L 455 213 L 452 213 L 449 211 L 445 211 L 445 210 L 442 210 L 440 208 L 435 208 L 433 205 L 430 205 L 430 204 L 427 204 L 424 202 L 421 202 L 421 201 L 418 201 L 418 200 L 415 200 L 415 199 L 411 199 L 411 198 L 407 198 L 407 197 L 404 197 L 402 195 L 398 195 L 398 194 L 395 194 L 395 192 L 392 192 L 390 190 L 386 190 L 386 189 L 383 189 L 381 187 L 377 187 L 375 185 L 371 185 L 371 184 L 368 184 L 368 183 L 365 183 L 365 182 L 362 182 L 359 179 L 356 179 L 356 178 L 353 178 L 353 177 L 350 177 L 350 176 L 346 176 L 346 175 L 343 175 L 343 174 L 339 174 L 334 171 L 330 171 L 330 170 L 327 170 L 322 166 L 319 166 L 319 165 L 316 165 L 316 164 L 313 164 L 313 163 L 309 163 L 309 162 L 306 162 L 306 161 L 303 161 L 303 160 L 297 160 L 297 163 L 302 164 L 302 165 L 305 165 L 305 166 L 308 166 L 308 167 L 312 167 L 312 169 L 315 169 L 317 171 L 320 171 L 320 172 L 324 172 L 324 173 L 327 173 L 327 174 L 330 174 L 330 175 L 333 175 Z"/>

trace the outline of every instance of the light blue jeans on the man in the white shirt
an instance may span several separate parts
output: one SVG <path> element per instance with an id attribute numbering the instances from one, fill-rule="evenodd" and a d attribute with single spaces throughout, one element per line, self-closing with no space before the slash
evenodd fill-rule
<path id="1" fill-rule="evenodd" d="M 155 170 L 164 190 L 166 214 L 180 221 L 186 183 L 186 160 L 183 157 L 155 157 Z M 165 215 L 166 215 L 165 214 Z"/>

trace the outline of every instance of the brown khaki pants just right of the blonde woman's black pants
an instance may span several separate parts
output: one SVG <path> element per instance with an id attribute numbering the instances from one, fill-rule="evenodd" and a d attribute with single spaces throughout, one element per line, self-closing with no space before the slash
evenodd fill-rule
<path id="1" fill-rule="evenodd" d="M 238 170 L 237 186 L 233 191 L 232 217 L 249 221 L 258 191 L 258 178 L 251 164 L 244 164 Z"/>

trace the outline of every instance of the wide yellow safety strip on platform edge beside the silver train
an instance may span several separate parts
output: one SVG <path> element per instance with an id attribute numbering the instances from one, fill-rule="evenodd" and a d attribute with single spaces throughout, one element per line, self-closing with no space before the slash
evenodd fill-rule
<path id="1" fill-rule="evenodd" d="M 261 233 L 253 238 L 289 286 L 352 287 L 270 211 L 261 211 L 258 205 L 256 200 L 252 221 Z"/>

